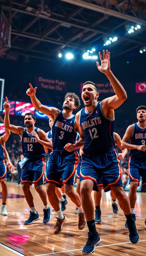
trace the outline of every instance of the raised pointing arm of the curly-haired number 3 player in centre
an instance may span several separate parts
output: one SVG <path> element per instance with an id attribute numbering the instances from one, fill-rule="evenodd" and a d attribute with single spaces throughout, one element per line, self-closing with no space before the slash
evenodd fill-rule
<path id="1" fill-rule="evenodd" d="M 29 83 L 29 86 L 30 86 L 30 88 L 26 91 L 26 94 L 28 96 L 30 96 L 34 108 L 37 109 L 38 111 L 44 113 L 45 115 L 51 115 L 51 116 L 56 117 L 56 115 L 59 112 L 59 109 L 42 105 L 41 102 L 37 99 L 37 97 L 35 95 L 37 87 L 35 87 L 33 89 L 31 83 Z"/>

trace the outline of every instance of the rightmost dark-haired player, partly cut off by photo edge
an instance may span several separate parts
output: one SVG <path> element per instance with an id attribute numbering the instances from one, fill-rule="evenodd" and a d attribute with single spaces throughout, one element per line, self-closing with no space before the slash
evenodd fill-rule
<path id="1" fill-rule="evenodd" d="M 132 217 L 135 218 L 136 190 L 140 185 L 142 177 L 142 187 L 146 187 L 146 106 L 139 106 L 136 109 L 138 122 L 128 126 L 122 139 L 122 147 L 131 149 L 129 156 L 129 201 Z M 131 140 L 131 143 L 128 141 Z M 127 222 L 125 223 L 127 227 Z M 145 220 L 146 227 L 146 220 Z"/>

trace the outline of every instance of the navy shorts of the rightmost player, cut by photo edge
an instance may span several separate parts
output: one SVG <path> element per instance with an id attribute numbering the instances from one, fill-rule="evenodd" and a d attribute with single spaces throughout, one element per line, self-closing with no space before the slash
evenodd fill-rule
<path id="1" fill-rule="evenodd" d="M 142 187 L 146 187 L 146 160 L 129 157 L 128 163 L 129 183 L 137 181 L 140 186 L 140 176 L 142 177 Z"/>

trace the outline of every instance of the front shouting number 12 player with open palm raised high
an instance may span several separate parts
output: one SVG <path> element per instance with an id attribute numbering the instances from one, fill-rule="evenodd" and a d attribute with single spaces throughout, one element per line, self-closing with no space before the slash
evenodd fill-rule
<path id="1" fill-rule="evenodd" d="M 135 244 L 139 241 L 139 234 L 131 215 L 130 203 L 122 187 L 118 151 L 114 148 L 114 109 L 127 99 L 127 94 L 110 70 L 110 53 L 106 51 L 105 54 L 103 51 L 102 58 L 99 52 L 99 56 L 101 66 L 97 62 L 97 68 L 105 73 L 116 95 L 98 102 L 98 86 L 90 81 L 85 82 L 82 89 L 85 108 L 76 114 L 79 134 L 85 139 L 80 169 L 80 193 L 89 232 L 83 254 L 92 254 L 95 246 L 101 243 L 101 238 L 96 231 L 91 196 L 92 189 L 98 191 L 100 176 L 103 176 L 104 190 L 111 189 L 113 191 L 127 218 L 131 243 Z"/>

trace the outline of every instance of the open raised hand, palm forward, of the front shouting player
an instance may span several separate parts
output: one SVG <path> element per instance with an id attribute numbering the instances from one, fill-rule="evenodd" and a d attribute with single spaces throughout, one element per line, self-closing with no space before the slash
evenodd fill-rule
<path id="1" fill-rule="evenodd" d="M 99 65 L 99 62 L 97 61 L 97 68 L 100 72 L 107 74 L 110 71 L 110 52 L 106 50 L 106 55 L 105 55 L 105 50 L 103 50 L 103 58 L 101 53 L 99 52 L 99 57 L 101 60 L 101 66 Z"/>

